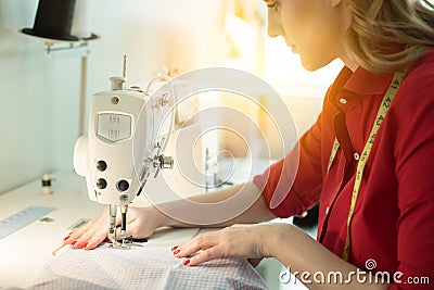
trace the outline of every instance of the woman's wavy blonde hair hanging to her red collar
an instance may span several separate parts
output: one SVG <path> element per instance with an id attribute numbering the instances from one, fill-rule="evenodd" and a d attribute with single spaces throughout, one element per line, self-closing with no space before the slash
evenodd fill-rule
<path id="1" fill-rule="evenodd" d="M 346 48 L 369 71 L 400 71 L 434 47 L 434 4 L 430 0 L 346 0 L 346 3 L 353 11 Z"/>

